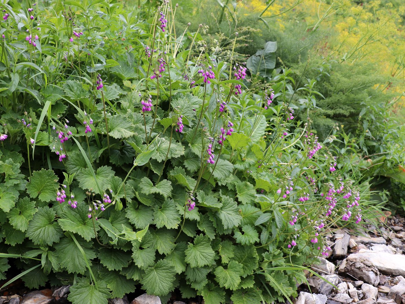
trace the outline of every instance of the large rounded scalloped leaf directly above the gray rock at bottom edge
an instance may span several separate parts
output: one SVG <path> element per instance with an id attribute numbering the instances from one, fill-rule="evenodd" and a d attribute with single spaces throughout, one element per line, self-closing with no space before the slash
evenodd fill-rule
<path id="1" fill-rule="evenodd" d="M 148 294 L 166 295 L 173 288 L 176 270 L 168 260 L 159 260 L 155 265 L 145 270 L 141 279 L 142 288 Z"/>

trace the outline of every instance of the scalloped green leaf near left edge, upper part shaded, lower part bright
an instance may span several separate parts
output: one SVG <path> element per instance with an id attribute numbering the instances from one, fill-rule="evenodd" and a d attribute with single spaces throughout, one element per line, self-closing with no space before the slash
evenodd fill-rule
<path id="1" fill-rule="evenodd" d="M 34 217 L 36 211 L 35 202 L 30 201 L 28 197 L 24 197 L 23 199 L 19 199 L 15 208 L 7 214 L 7 218 L 9 218 L 9 223 L 13 225 L 15 229 L 24 232 L 27 230 L 28 223 Z"/>

